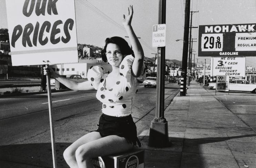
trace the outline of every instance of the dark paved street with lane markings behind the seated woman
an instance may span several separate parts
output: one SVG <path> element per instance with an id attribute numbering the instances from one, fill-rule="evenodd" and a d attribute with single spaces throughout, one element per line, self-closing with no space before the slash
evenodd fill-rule
<path id="1" fill-rule="evenodd" d="M 165 108 L 179 92 L 179 87 L 177 83 L 166 82 Z M 97 128 L 101 103 L 96 100 L 95 93 L 52 93 L 59 167 L 67 167 L 62 156 L 64 149 L 83 134 Z M 145 88 L 143 85 L 138 87 L 133 99 L 133 119 L 138 133 L 148 129 L 154 118 L 155 98 L 156 88 Z M 51 167 L 52 161 L 42 160 L 51 155 L 47 93 L 0 97 L 0 103 L 0 164 L 4 167 L 13 167 L 14 163 L 17 167 Z M 31 149 L 36 150 L 32 152 Z"/>

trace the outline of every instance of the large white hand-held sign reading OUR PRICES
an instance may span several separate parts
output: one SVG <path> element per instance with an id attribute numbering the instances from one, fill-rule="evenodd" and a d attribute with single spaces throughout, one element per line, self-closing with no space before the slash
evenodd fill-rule
<path id="1" fill-rule="evenodd" d="M 78 62 L 74 0 L 6 1 L 12 65 Z"/>

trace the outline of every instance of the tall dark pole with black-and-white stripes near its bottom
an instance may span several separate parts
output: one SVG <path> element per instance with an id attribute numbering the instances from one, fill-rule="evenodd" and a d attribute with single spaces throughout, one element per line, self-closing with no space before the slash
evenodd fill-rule
<path id="1" fill-rule="evenodd" d="M 180 96 L 186 96 L 188 32 L 189 32 L 189 20 L 190 20 L 189 11 L 190 11 L 190 0 L 186 0 Z"/>

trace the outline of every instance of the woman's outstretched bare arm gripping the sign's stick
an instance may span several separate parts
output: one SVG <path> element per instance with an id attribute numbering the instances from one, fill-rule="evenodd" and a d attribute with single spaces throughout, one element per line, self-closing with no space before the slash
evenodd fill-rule
<path id="1" fill-rule="evenodd" d="M 72 81 L 70 79 L 67 79 L 67 78 L 57 74 L 50 67 L 44 67 L 43 69 L 44 69 L 44 75 L 49 75 L 49 72 L 50 72 L 51 77 L 53 77 L 55 80 L 59 81 L 60 83 L 62 83 L 63 85 L 65 85 L 66 87 L 68 87 L 68 88 L 70 88 L 74 91 L 91 91 L 91 90 L 94 90 L 90 81 L 85 81 L 85 82 L 78 83 L 76 81 Z"/>

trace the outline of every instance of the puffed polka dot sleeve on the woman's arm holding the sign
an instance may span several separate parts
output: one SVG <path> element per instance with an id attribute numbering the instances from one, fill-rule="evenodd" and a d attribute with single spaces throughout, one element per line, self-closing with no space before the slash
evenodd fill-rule
<path id="1" fill-rule="evenodd" d="M 100 65 L 95 65 L 90 67 L 87 73 L 87 79 L 91 82 L 92 86 L 97 90 L 100 82 L 104 80 L 103 77 L 103 67 Z"/>

